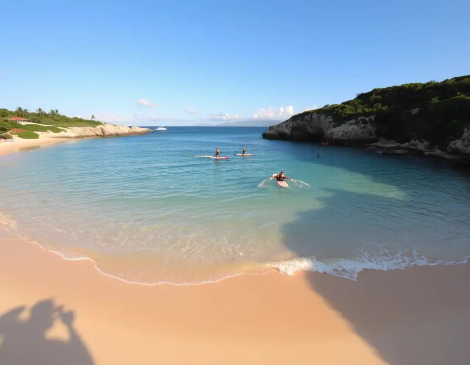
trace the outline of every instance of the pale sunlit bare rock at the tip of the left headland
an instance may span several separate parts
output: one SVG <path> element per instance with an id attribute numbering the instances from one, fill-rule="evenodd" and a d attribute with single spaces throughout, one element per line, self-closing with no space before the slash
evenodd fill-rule
<path id="1" fill-rule="evenodd" d="M 52 133 L 52 132 L 36 132 L 41 136 L 47 136 L 50 138 L 84 138 L 84 137 L 120 137 L 120 136 L 132 136 L 132 135 L 143 135 L 147 132 L 153 132 L 149 128 L 141 127 L 128 127 L 125 125 L 114 125 L 109 123 L 103 123 L 96 127 L 70 127 L 64 129 L 64 132 Z"/>

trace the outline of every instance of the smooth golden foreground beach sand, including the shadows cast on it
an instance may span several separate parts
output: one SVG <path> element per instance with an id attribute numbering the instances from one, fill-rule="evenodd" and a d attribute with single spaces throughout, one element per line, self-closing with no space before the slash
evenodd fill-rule
<path id="1" fill-rule="evenodd" d="M 0 229 L 0 359 L 20 364 L 468 364 L 470 265 L 141 286 Z"/>

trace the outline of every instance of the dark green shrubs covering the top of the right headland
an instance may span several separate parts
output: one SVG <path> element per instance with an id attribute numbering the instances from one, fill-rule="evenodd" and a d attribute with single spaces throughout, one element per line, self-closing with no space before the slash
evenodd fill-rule
<path id="1" fill-rule="evenodd" d="M 470 124 L 470 75 L 374 89 L 302 114 L 312 112 L 330 115 L 338 123 L 376 115 L 379 137 L 400 143 L 426 139 L 445 149 Z"/>

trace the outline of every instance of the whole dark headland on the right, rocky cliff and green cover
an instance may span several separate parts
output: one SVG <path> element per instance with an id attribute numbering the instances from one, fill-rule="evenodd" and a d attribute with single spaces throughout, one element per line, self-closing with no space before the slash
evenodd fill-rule
<path id="1" fill-rule="evenodd" d="M 386 149 L 388 154 L 467 161 L 470 75 L 359 93 L 341 104 L 293 115 L 270 126 L 262 137 L 367 145 Z"/>

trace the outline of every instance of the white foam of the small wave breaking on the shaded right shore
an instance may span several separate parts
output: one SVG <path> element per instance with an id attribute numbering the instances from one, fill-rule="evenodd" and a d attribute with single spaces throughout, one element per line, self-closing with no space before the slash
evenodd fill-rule
<path id="1" fill-rule="evenodd" d="M 343 277 L 353 281 L 357 280 L 357 275 L 364 270 L 403 270 L 411 266 L 434 266 L 434 265 L 455 265 L 469 262 L 469 258 L 465 257 L 460 261 L 431 261 L 424 256 L 420 256 L 416 250 L 413 250 L 411 256 L 402 255 L 400 252 L 396 255 L 377 255 L 364 253 L 357 260 L 338 258 L 322 262 L 314 256 L 294 258 L 290 260 L 278 261 L 266 264 L 273 267 L 282 274 L 294 275 L 299 271 L 311 271 L 322 274 L 330 274 Z"/>

